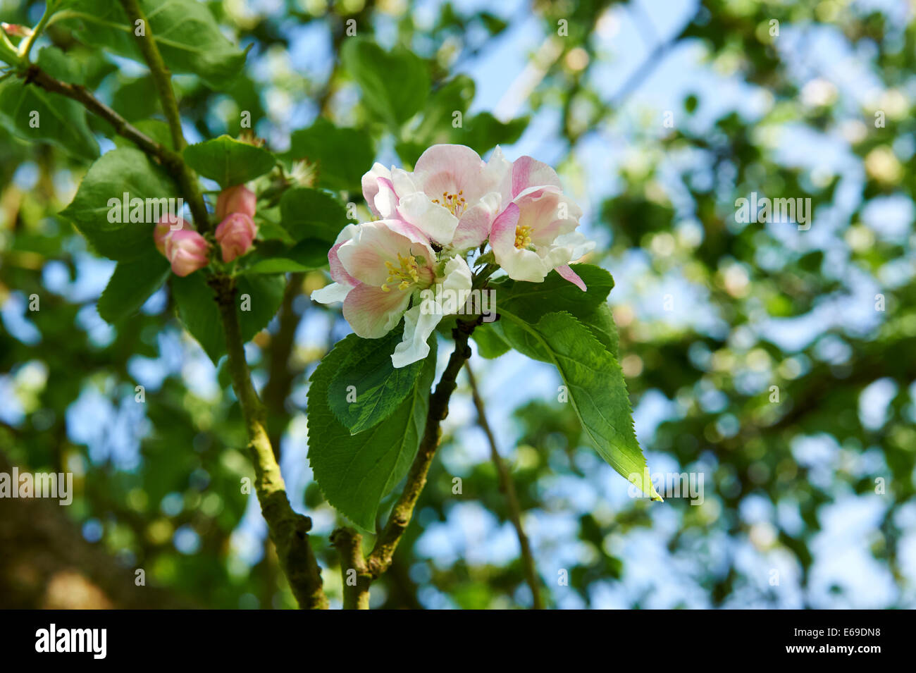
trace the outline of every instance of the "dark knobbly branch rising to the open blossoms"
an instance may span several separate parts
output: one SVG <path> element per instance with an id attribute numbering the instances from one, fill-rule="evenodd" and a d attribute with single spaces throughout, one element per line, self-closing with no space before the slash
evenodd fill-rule
<path id="1" fill-rule="evenodd" d="M 430 410 L 426 415 L 426 429 L 423 431 L 423 439 L 420 440 L 417 457 L 410 465 L 410 472 L 407 475 L 404 491 L 392 508 L 385 528 L 377 537 L 376 546 L 365 559 L 366 568 L 373 579 L 377 579 L 391 565 L 391 558 L 395 553 L 395 549 L 398 548 L 401 536 L 410 523 L 413 509 L 417 505 L 417 500 L 420 499 L 423 486 L 426 485 L 426 475 L 430 472 L 432 457 L 435 455 L 436 449 L 439 447 L 439 441 L 442 439 L 442 420 L 448 416 L 449 399 L 458 385 L 456 383 L 458 372 L 461 371 L 464 362 L 471 357 L 471 349 L 467 345 L 467 340 L 471 336 L 471 332 L 474 331 L 475 326 L 476 322 L 458 320 L 457 327 L 452 331 L 455 350 L 449 358 L 449 364 L 445 366 L 445 371 L 442 372 L 442 378 L 439 379 L 435 392 L 430 396 Z"/>

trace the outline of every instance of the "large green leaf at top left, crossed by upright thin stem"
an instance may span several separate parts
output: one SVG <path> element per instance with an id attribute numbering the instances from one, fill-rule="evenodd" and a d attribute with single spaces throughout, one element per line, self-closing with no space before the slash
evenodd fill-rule
<path id="1" fill-rule="evenodd" d="M 245 67 L 245 52 L 223 35 L 206 3 L 198 0 L 139 0 L 149 31 L 172 72 L 191 72 L 220 90 Z M 82 42 L 143 60 L 134 25 L 114 0 L 67 0 L 51 19 L 70 27 Z"/>

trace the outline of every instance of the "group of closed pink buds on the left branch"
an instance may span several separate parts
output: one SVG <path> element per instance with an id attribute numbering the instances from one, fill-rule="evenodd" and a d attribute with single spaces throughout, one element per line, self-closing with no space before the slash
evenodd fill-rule
<path id="1" fill-rule="evenodd" d="M 224 262 L 245 255 L 255 241 L 254 221 L 257 197 L 245 185 L 236 185 L 220 192 L 216 199 L 214 238 L 219 244 Z M 153 230 L 158 251 L 169 260 L 176 276 L 188 276 L 209 263 L 210 244 L 191 228 L 191 224 L 175 215 L 165 215 Z"/>

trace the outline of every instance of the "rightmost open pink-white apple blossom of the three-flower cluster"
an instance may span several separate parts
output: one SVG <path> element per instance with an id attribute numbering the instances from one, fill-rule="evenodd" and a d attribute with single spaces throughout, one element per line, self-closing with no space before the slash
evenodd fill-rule
<path id="1" fill-rule="evenodd" d="M 503 180 L 508 201 L 490 231 L 496 263 L 510 278 L 540 282 L 556 269 L 578 288 L 585 284 L 569 263 L 594 247 L 579 226 L 582 209 L 562 193 L 556 172 L 531 157 L 520 157 Z"/>

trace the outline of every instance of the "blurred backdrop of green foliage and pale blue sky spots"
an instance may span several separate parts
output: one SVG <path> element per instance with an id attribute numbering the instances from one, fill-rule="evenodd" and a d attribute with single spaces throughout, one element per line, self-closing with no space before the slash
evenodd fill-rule
<path id="1" fill-rule="evenodd" d="M 208 4 L 251 51 L 226 91 L 175 78 L 191 142 L 237 134 L 250 111 L 278 151 L 319 116 L 365 131 L 387 165 L 409 165 L 431 140 L 484 156 L 499 143 L 510 159 L 555 166 L 582 205 L 598 242 L 587 261 L 616 279 L 650 471 L 702 474 L 704 488 L 702 504 L 631 497 L 584 445 L 549 366 L 475 356 L 551 607 L 916 607 L 916 5 Z M 0 20 L 34 25 L 42 9 L 0 0 Z M 439 122 L 383 132 L 337 58 L 348 19 L 427 60 L 434 92 L 461 78 L 457 102 L 436 103 Z M 129 120 L 158 115 L 141 66 L 63 29 L 49 42 Z M 452 128 L 453 107 L 473 139 Z M 96 129 L 103 151 L 114 147 Z M 0 469 L 72 471 L 77 486 L 70 507 L 0 500 L 0 606 L 293 607 L 256 499 L 239 493 L 250 467 L 223 368 L 182 332 L 165 288 L 123 325 L 98 316 L 114 262 L 56 215 L 86 168 L 79 158 L 3 127 L 0 157 Z M 738 222 L 736 199 L 754 191 L 811 199 L 810 229 Z M 308 299 L 321 272 L 290 280 L 246 350 L 339 606 L 328 535 L 343 521 L 311 481 L 306 390 L 348 328 Z M 530 604 L 461 383 L 374 607 Z M 147 587 L 135 587 L 136 569 Z"/>

